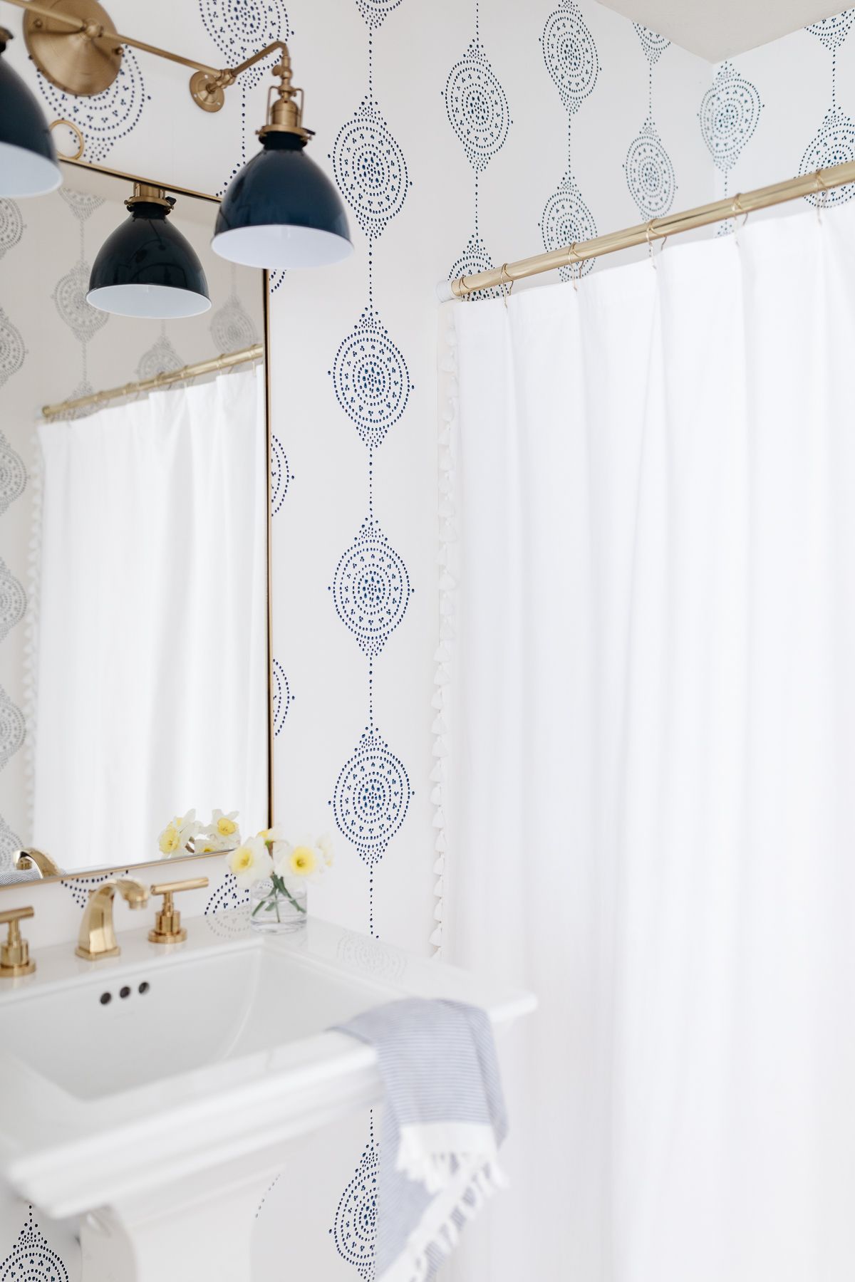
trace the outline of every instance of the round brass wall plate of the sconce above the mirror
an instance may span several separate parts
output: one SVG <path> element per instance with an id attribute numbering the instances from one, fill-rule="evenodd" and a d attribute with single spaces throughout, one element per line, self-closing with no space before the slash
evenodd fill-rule
<path id="1" fill-rule="evenodd" d="M 122 67 L 122 45 L 113 19 L 97 0 L 46 0 L 46 4 L 54 13 L 82 18 L 88 26 L 74 31 L 65 22 L 24 13 L 24 42 L 33 63 L 65 94 L 85 97 L 103 94 Z"/>

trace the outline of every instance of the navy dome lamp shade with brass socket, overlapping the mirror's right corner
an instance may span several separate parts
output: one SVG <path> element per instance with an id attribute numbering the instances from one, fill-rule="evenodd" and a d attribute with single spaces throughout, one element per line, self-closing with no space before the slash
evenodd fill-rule
<path id="1" fill-rule="evenodd" d="M 335 185 L 305 154 L 311 131 L 303 126 L 303 90 L 291 86 L 287 50 L 273 74 L 281 83 L 270 86 L 276 97 L 258 131 L 261 150 L 223 196 L 212 249 L 245 267 L 337 263 L 354 247 L 347 215 Z"/>

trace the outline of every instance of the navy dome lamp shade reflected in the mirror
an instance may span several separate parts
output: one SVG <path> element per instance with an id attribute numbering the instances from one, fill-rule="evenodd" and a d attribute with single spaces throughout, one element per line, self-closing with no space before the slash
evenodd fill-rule
<path id="1" fill-rule="evenodd" d="M 168 222 L 174 196 L 135 182 L 124 201 L 129 218 L 101 245 L 92 265 L 86 301 L 120 317 L 172 320 L 210 308 L 199 255 Z"/>

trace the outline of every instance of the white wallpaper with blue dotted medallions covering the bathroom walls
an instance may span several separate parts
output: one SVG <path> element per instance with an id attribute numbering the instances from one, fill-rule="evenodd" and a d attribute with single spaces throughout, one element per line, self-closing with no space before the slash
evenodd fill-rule
<path id="1" fill-rule="evenodd" d="M 365 932 L 360 955 L 382 972 L 383 941 L 441 951 L 445 859 L 465 856 L 446 849 L 442 806 L 455 627 L 444 549 L 456 531 L 436 429 L 436 283 L 851 158 L 855 10 L 718 68 L 594 0 L 158 0 L 145 13 L 113 0 L 110 12 L 214 63 L 287 37 L 310 155 L 347 205 L 351 259 L 272 279 L 276 799 L 287 828 L 332 832 L 336 869 L 313 908 Z M 9 56 L 94 160 L 222 191 L 256 146 L 272 59 L 208 115 L 179 68 L 145 54 L 128 54 L 100 100 L 59 94 L 21 41 Z M 31 209 L 0 210 L 0 255 L 18 251 Z M 0 295 L 6 385 L 27 360 L 13 303 Z M 97 335 L 76 341 L 85 354 Z M 8 422 L 0 431 L 1 796 L 23 751 L 4 647 L 26 628 L 15 510 L 28 477 Z M 4 814 L 0 850 L 12 841 Z M 233 901 L 227 881 L 217 895 L 214 906 Z M 259 1278 L 285 1261 L 329 1282 L 372 1277 L 377 1156 L 364 1117 L 331 1132 L 308 1172 L 283 1172 L 259 1208 Z M 286 1223 L 299 1224 L 287 1249 Z M 79 1277 L 67 1226 L 0 1203 L 0 1279 L 22 1253 L 33 1278 Z"/>

